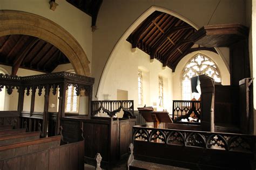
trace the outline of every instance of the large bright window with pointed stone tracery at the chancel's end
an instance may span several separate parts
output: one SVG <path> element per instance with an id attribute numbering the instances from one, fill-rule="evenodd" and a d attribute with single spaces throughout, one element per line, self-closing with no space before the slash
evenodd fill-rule
<path id="1" fill-rule="evenodd" d="M 199 99 L 198 93 L 191 93 L 191 81 L 194 76 L 206 74 L 216 82 L 221 81 L 217 65 L 208 57 L 198 53 L 185 66 L 182 74 L 182 97 L 183 100 Z"/>

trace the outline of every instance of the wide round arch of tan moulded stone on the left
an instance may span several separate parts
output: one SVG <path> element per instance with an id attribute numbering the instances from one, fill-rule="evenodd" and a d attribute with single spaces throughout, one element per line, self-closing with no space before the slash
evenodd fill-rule
<path id="1" fill-rule="evenodd" d="M 90 76 L 89 60 L 77 40 L 47 18 L 22 11 L 0 11 L 0 37 L 23 34 L 41 38 L 68 57 L 77 74 Z"/>

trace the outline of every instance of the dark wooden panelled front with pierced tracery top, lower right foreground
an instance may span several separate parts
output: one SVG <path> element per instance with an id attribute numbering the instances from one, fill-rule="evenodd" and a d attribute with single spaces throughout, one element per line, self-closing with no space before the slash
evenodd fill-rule
<path id="1" fill-rule="evenodd" d="M 253 135 L 133 126 L 134 159 L 189 169 L 251 169 Z"/>

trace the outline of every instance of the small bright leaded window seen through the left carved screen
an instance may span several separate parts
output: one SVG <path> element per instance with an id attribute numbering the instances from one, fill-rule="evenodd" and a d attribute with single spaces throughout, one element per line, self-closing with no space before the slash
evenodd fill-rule
<path id="1" fill-rule="evenodd" d="M 70 85 L 66 90 L 65 112 L 78 112 L 79 96 L 76 95 L 76 87 Z"/>

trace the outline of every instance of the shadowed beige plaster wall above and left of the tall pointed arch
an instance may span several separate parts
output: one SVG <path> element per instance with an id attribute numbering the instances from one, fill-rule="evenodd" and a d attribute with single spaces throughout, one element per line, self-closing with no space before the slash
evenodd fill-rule
<path id="1" fill-rule="evenodd" d="M 220 1 L 217 10 L 213 13 L 218 3 L 217 0 L 103 1 L 97 19 L 98 30 L 93 32 L 92 76 L 96 78 L 94 93 L 96 94 L 107 59 L 110 56 L 116 57 L 114 47 L 118 49 L 118 43 L 124 41 L 154 11 L 153 8 L 149 9 L 152 5 L 159 6 L 160 11 L 174 13 L 181 19 L 186 18 L 186 22 L 197 29 L 207 24 L 245 24 L 244 0 Z M 103 77 L 104 75 L 105 73 Z"/>

